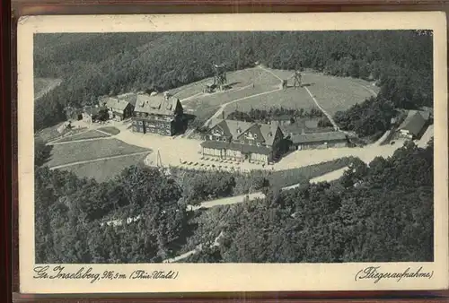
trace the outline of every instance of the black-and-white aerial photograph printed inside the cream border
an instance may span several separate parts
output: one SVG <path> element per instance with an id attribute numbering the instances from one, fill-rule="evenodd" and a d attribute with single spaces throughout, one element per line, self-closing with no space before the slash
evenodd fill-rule
<path id="1" fill-rule="evenodd" d="M 32 33 L 34 264 L 432 264 L 434 37 Z"/>

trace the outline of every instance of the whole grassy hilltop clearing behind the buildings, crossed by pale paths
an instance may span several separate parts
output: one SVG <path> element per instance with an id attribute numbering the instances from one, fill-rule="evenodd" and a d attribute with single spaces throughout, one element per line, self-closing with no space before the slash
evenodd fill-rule
<path id="1" fill-rule="evenodd" d="M 304 108 L 310 110 L 316 105 L 306 88 L 330 115 L 345 110 L 378 92 L 370 82 L 360 79 L 334 77 L 325 74 L 307 72 L 303 74 L 303 88 L 288 87 L 276 89 L 281 79 L 288 79 L 292 71 L 271 70 L 254 67 L 228 74 L 228 82 L 235 82 L 229 91 L 217 91 L 204 94 L 202 90 L 207 81 L 200 81 L 176 89 L 177 97 L 182 101 L 186 112 L 202 119 L 210 117 L 212 110 L 228 104 L 224 116 L 235 109 L 247 111 L 251 108 Z M 254 83 L 254 87 L 252 86 Z M 290 80 L 289 85 L 292 84 Z M 253 97 L 252 97 L 253 96 Z M 223 117 L 223 116 L 220 116 Z"/>

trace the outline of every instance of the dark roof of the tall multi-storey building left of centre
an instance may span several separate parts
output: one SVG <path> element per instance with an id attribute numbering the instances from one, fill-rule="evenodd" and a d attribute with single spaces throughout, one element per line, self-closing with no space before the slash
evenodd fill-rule
<path id="1" fill-rule="evenodd" d="M 163 94 L 138 94 L 136 98 L 136 112 L 172 116 L 180 100 L 172 96 L 165 98 Z"/>

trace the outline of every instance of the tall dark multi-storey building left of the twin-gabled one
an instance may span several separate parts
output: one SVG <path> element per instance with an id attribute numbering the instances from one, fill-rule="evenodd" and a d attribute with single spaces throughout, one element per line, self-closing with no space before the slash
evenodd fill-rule
<path id="1" fill-rule="evenodd" d="M 180 100 L 172 97 L 168 92 L 137 94 L 133 132 L 178 134 L 183 130 L 183 113 Z"/>

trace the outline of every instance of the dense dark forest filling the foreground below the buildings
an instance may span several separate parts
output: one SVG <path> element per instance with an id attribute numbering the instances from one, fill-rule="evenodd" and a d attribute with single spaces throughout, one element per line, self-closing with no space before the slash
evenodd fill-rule
<path id="1" fill-rule="evenodd" d="M 48 151 L 39 146 L 42 162 Z M 167 176 L 134 166 L 99 184 L 67 171 L 35 172 L 38 263 L 154 263 L 198 244 L 205 250 L 188 262 L 433 260 L 432 142 L 426 149 L 407 143 L 369 166 L 353 159 L 332 184 L 304 182 L 284 192 L 273 184 L 278 177 L 263 174 Z M 187 211 L 197 195 L 255 189 L 267 198 Z M 220 246 L 207 248 L 222 232 Z"/>

